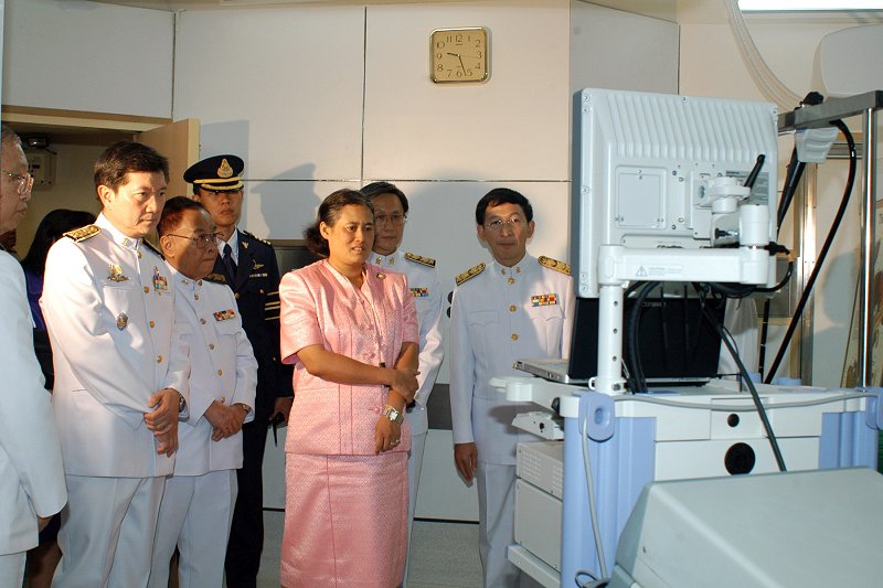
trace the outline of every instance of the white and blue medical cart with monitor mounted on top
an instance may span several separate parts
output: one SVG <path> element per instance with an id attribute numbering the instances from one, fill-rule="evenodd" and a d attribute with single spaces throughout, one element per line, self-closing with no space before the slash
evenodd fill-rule
<path id="1" fill-rule="evenodd" d="M 877 392 L 758 386 L 779 438 L 774 460 L 768 428 L 737 383 L 625 394 L 630 281 L 773 284 L 777 117 L 764 103 L 605 89 L 577 93 L 574 113 L 572 266 L 577 296 L 598 297 L 602 309 L 594 392 L 539 378 L 493 383 L 510 400 L 563 417 L 560 554 L 531 538 L 509 550 L 544 586 L 613 569 L 647 483 L 775 472 L 783 458 L 792 470 L 873 468 L 883 424 Z M 520 471 L 517 496 L 530 496 L 521 503 L 554 512 L 538 491 L 554 492 L 529 478 Z M 530 515 L 517 511 L 517 527 Z"/>

